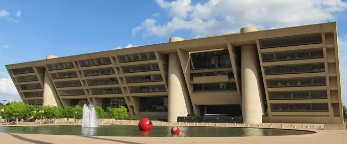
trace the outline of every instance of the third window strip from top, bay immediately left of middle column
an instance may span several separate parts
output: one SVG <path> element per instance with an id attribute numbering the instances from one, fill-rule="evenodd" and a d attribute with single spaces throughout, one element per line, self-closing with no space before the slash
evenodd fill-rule
<path id="1" fill-rule="evenodd" d="M 163 81 L 161 74 L 125 76 L 125 79 L 127 83 Z"/>

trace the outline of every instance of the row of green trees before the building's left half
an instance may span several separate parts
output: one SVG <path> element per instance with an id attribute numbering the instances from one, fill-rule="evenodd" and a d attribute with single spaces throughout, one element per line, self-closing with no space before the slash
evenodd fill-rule
<path id="1" fill-rule="evenodd" d="M 76 106 L 65 106 L 61 108 L 59 106 L 45 105 L 38 108 L 34 108 L 32 105 L 25 105 L 22 102 L 10 102 L 6 105 L 0 105 L 0 109 L 4 109 L 4 112 L 1 112 L 1 116 L 4 118 L 16 118 L 16 124 L 18 124 L 18 117 L 41 117 L 41 113 L 38 111 L 43 110 L 42 117 L 46 120 L 56 120 L 59 118 L 73 118 L 80 119 L 83 116 L 83 107 Z M 36 111 L 36 112 L 35 112 Z M 95 106 L 96 117 L 98 119 L 105 117 L 105 111 L 100 106 Z M 77 113 L 76 113 L 77 112 Z M 124 106 L 119 106 L 118 108 L 107 108 L 107 116 L 112 119 L 120 119 L 128 117 L 127 108 Z"/>

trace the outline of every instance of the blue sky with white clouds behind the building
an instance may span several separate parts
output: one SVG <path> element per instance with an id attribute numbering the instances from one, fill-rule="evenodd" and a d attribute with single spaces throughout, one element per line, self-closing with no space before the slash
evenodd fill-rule
<path id="1" fill-rule="evenodd" d="M 5 65 L 183 39 L 337 22 L 347 103 L 347 0 L 0 0 L 0 102 L 21 101 Z"/>

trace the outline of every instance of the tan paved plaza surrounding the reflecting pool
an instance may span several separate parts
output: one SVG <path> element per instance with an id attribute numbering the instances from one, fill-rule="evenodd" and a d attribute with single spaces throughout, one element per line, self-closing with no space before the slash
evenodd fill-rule
<path id="1" fill-rule="evenodd" d="M 138 121 L 113 122 L 113 125 L 137 125 Z M 276 128 L 314 131 L 314 134 L 289 136 L 252 136 L 252 137 L 118 137 L 118 136 L 80 136 L 80 135 L 42 135 L 0 133 L 0 143 L 347 143 L 347 130 L 325 130 L 324 124 L 230 124 L 225 123 L 164 123 L 154 121 L 154 126 L 199 126 L 199 127 L 249 127 L 249 128 Z M 57 124 L 23 123 L 12 126 L 66 126 L 73 125 L 65 122 Z M 105 122 L 100 125 L 112 125 Z M 292 126 L 293 125 L 293 126 Z M 295 128 L 294 128 L 295 126 Z M 282 128 L 283 127 L 283 128 Z M 320 129 L 321 128 L 321 129 Z"/>

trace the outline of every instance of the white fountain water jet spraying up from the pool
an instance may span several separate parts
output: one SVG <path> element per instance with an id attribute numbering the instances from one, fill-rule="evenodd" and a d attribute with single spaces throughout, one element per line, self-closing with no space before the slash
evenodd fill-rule
<path id="1" fill-rule="evenodd" d="M 83 118 L 82 127 L 93 128 L 96 127 L 96 113 L 93 104 L 83 105 Z"/>

